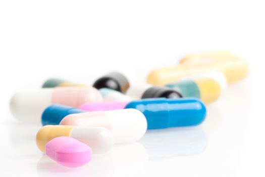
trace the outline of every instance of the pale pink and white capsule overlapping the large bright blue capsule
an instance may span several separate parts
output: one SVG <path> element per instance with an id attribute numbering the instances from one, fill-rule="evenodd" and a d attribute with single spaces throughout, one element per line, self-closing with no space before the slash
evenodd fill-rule
<path id="1" fill-rule="evenodd" d="M 145 116 L 136 109 L 70 114 L 60 125 L 105 127 L 112 132 L 114 143 L 137 141 L 144 136 L 147 129 Z"/>

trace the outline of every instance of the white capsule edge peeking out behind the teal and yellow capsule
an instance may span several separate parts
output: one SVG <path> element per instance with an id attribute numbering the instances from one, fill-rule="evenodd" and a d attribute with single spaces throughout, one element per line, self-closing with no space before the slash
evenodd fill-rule
<path id="1" fill-rule="evenodd" d="M 227 83 L 226 76 L 221 72 L 209 72 L 209 73 L 204 73 L 204 74 L 192 75 L 192 76 L 186 77 L 186 78 L 181 79 L 181 80 L 200 79 L 200 78 L 211 78 L 211 79 L 216 80 L 221 87 L 222 94 L 227 89 L 228 83 Z"/>

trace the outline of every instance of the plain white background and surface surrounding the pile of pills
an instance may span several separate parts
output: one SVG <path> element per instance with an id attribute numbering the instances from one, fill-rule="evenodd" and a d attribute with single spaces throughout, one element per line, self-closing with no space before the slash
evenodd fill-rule
<path id="1" fill-rule="evenodd" d="M 265 176 L 263 1 L 0 1 L 0 176 Z M 115 69 L 143 81 L 184 55 L 226 49 L 250 64 L 197 127 L 148 131 L 138 143 L 70 169 L 42 156 L 38 125 L 9 99 L 55 76 L 92 83 Z"/>

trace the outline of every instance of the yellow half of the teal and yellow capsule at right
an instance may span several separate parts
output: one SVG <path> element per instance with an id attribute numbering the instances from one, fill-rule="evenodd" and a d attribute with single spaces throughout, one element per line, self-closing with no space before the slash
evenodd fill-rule
<path id="1" fill-rule="evenodd" d="M 194 79 L 200 90 L 200 99 L 205 104 L 215 102 L 222 93 L 220 84 L 211 78 Z"/>

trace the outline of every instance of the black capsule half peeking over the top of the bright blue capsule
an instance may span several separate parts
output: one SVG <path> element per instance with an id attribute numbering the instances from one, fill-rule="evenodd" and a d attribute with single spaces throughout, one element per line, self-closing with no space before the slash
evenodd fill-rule
<path id="1" fill-rule="evenodd" d="M 144 98 L 182 98 L 183 96 L 176 90 L 163 87 L 163 86 L 152 86 L 147 89 L 143 95 Z"/>

